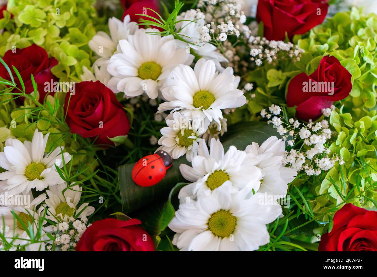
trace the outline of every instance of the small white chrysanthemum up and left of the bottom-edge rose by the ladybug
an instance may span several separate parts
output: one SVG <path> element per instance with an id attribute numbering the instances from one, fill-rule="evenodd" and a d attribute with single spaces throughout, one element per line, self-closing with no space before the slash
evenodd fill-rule
<path id="1" fill-rule="evenodd" d="M 66 191 L 64 191 L 63 195 L 64 189 L 66 189 Z M 54 222 L 57 222 L 57 219 L 67 222 L 74 214 L 80 213 L 78 218 L 81 218 L 94 213 L 94 208 L 88 207 L 89 203 L 81 204 L 80 207 L 77 208 L 82 190 L 83 188 L 79 185 L 70 186 L 68 188 L 66 183 L 49 187 L 49 190 L 46 190 L 48 198 L 45 200 L 48 207 L 48 219 Z"/>

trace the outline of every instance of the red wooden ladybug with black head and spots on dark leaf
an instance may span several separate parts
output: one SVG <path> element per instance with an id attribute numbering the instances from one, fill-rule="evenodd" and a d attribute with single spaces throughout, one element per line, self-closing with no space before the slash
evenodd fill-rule
<path id="1" fill-rule="evenodd" d="M 172 165 L 172 157 L 167 152 L 158 150 L 136 162 L 132 169 L 132 180 L 141 187 L 153 186 L 164 178 L 166 170 Z"/>

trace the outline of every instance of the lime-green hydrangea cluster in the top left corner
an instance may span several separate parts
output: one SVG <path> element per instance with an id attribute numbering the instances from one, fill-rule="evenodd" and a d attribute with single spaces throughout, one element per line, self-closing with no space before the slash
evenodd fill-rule
<path id="1" fill-rule="evenodd" d="M 93 52 L 88 46 L 96 28 L 106 18 L 98 17 L 94 0 L 10 0 L 0 20 L 0 56 L 12 47 L 35 43 L 55 57 L 59 64 L 52 72 L 61 81 L 80 81 L 82 67 L 90 68 Z M 96 26 L 96 27 L 94 27 Z"/>

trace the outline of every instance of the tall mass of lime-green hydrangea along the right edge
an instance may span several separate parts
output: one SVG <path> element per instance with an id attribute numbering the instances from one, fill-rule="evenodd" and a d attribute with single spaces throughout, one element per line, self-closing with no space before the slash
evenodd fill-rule
<path id="1" fill-rule="evenodd" d="M 313 212 L 326 213 L 347 201 L 364 208 L 377 207 L 377 15 L 356 8 L 328 18 L 294 42 L 305 50 L 302 72 L 311 73 L 324 55 L 335 56 L 352 74 L 350 95 L 338 102 L 330 124 L 336 136 L 329 149 L 342 156 L 322 182 L 311 189 Z M 327 218 L 323 218 L 327 220 Z"/>

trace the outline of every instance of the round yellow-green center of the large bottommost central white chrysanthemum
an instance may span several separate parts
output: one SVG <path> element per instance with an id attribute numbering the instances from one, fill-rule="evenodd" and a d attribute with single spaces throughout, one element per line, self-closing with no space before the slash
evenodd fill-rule
<path id="1" fill-rule="evenodd" d="M 219 210 L 211 214 L 208 220 L 208 228 L 215 236 L 229 237 L 236 228 L 237 217 L 229 211 Z"/>

